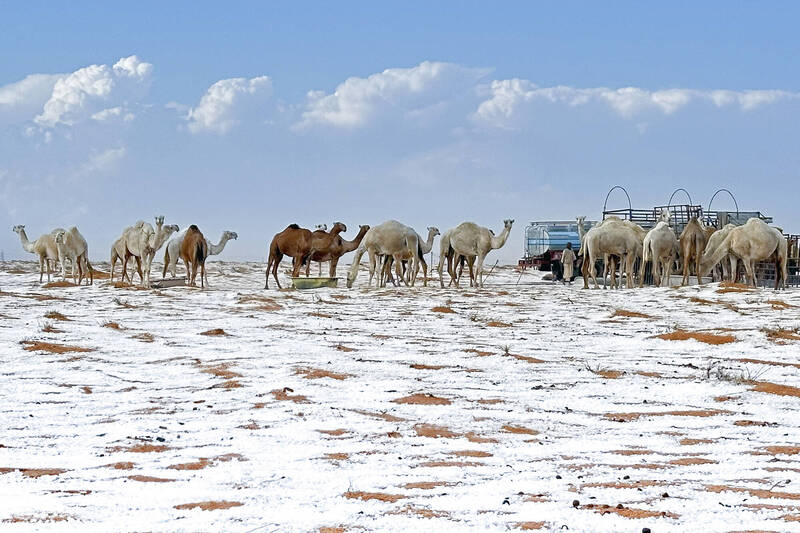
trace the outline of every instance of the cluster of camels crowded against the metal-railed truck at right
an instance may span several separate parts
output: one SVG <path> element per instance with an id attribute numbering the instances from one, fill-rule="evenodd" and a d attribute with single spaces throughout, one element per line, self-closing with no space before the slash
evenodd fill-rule
<path id="1" fill-rule="evenodd" d="M 783 233 L 768 226 L 759 218 L 751 218 L 741 226 L 728 224 L 717 230 L 693 217 L 680 234 L 670 227 L 670 212 L 663 210 L 658 223 L 650 231 L 618 217 L 608 217 L 584 233 L 585 217 L 578 217 L 578 231 L 583 256 L 583 286 L 589 288 L 589 278 L 598 288 L 595 264 L 603 259 L 603 278 L 611 273 L 612 287 L 616 286 L 615 261 L 625 270 L 626 286 L 634 283 L 634 263 L 641 259 L 639 286 L 643 285 L 647 262 L 653 263 L 653 280 L 656 285 L 669 284 L 672 265 L 680 260 L 683 265 L 682 285 L 689 283 L 691 267 L 697 282 L 708 276 L 721 264 L 720 279 L 736 281 L 738 262 L 744 264 L 747 283 L 756 286 L 755 265 L 759 261 L 775 262 L 775 288 L 786 288 L 787 241 Z M 664 272 L 662 277 L 661 273 Z M 622 282 L 620 281 L 620 286 Z"/>

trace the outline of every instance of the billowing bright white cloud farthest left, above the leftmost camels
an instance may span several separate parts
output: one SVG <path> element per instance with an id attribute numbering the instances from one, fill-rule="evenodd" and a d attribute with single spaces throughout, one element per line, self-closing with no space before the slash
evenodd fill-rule
<path id="1" fill-rule="evenodd" d="M 122 58 L 113 67 L 89 65 L 62 76 L 35 118 L 44 128 L 73 125 L 89 117 L 138 99 L 149 86 L 153 66 L 136 56 Z M 129 114 L 129 112 L 128 112 Z M 110 117 L 112 115 L 105 115 Z"/>

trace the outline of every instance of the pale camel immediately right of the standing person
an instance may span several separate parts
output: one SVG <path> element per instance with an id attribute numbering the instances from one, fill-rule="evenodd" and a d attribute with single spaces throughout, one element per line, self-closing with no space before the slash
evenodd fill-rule
<path id="1" fill-rule="evenodd" d="M 595 289 L 600 287 L 595 273 L 595 261 L 601 254 L 605 262 L 603 276 L 609 267 L 609 257 L 616 255 L 625 264 L 626 286 L 633 287 L 633 263 L 642 252 L 645 235 L 646 232 L 638 224 L 614 216 L 608 217 L 587 231 L 580 250 L 580 255 L 584 258 L 582 267 L 584 288 L 589 287 L 589 277 L 594 281 Z"/>

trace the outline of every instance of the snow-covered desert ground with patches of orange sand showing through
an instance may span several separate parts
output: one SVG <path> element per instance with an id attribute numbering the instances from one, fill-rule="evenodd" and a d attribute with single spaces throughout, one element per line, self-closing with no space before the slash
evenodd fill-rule
<path id="1" fill-rule="evenodd" d="M 4 531 L 800 531 L 798 289 L 37 268 L 0 271 Z"/>

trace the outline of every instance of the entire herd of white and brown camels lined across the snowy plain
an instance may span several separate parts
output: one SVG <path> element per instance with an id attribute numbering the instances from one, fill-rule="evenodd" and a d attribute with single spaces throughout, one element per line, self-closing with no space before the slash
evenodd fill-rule
<path id="1" fill-rule="evenodd" d="M 589 288 L 589 278 L 598 288 L 595 265 L 603 259 L 603 278 L 610 273 L 612 287 L 616 286 L 616 265 L 621 273 L 624 270 L 626 286 L 634 286 L 634 265 L 640 260 L 638 272 L 639 286 L 644 282 L 645 265 L 653 263 L 653 279 L 656 285 L 669 284 L 673 265 L 680 261 L 683 268 L 682 284 L 689 282 L 694 266 L 698 283 L 718 265 L 719 278 L 735 281 L 738 276 L 738 262 L 742 261 L 746 271 L 747 282 L 756 285 L 755 264 L 759 261 L 774 261 L 776 265 L 775 288 L 786 287 L 787 278 L 787 242 L 783 234 L 758 218 L 751 218 L 742 226 L 727 226 L 716 230 L 707 227 L 698 218 L 692 218 L 676 236 L 670 226 L 670 212 L 663 210 L 658 223 L 650 231 L 629 220 L 608 217 L 589 231 L 584 231 L 585 217 L 578 217 L 578 231 L 581 248 L 578 257 L 583 258 L 582 273 L 584 288 Z M 463 222 L 455 228 L 441 234 L 439 246 L 439 282 L 444 287 L 442 271 L 447 266 L 450 284 L 459 286 L 464 266 L 469 268 L 470 286 L 482 287 L 484 279 L 484 261 L 491 250 L 505 245 L 513 225 L 513 220 L 504 220 L 500 234 L 479 226 L 474 222 Z M 339 259 L 355 251 L 355 257 L 347 273 L 347 287 L 353 286 L 358 276 L 359 265 L 363 255 L 369 258 L 369 281 L 372 285 L 376 277 L 376 286 L 385 286 L 387 282 L 397 284 L 392 276 L 394 267 L 397 279 L 406 285 L 413 286 L 422 269 L 423 284 L 427 286 L 428 265 L 425 255 L 433 249 L 434 239 L 440 235 L 435 227 L 429 227 L 428 236 L 423 239 L 410 226 L 396 220 L 388 220 L 378 226 L 360 226 L 353 240 L 342 238 L 347 226 L 341 222 L 333 224 L 330 231 L 327 226 L 318 226 L 314 231 L 291 224 L 276 234 L 269 245 L 264 288 L 269 288 L 270 273 L 278 288 L 278 266 L 284 256 L 292 258 L 292 276 L 300 275 L 305 266 L 305 275 L 309 275 L 312 262 L 321 265 L 330 263 L 330 277 L 336 277 Z M 50 281 L 52 268 L 60 263 L 61 276 L 66 279 L 66 263 L 72 265 L 72 279 L 80 284 L 86 278 L 93 282 L 93 269 L 88 259 L 88 245 L 78 228 L 55 228 L 34 241 L 28 239 L 25 226 L 14 226 L 19 235 L 23 249 L 35 254 L 39 259 L 39 282 L 44 273 Z M 198 272 L 200 285 L 206 287 L 208 278 L 205 272 L 205 261 L 210 255 L 223 251 L 225 244 L 238 235 L 233 231 L 224 231 L 218 244 L 205 238 L 200 229 L 192 224 L 184 232 L 174 224 L 164 224 L 164 217 L 155 217 L 155 227 L 139 221 L 125 228 L 122 235 L 111 247 L 111 273 L 114 280 L 114 269 L 117 260 L 122 263 L 121 280 L 133 282 L 133 275 L 128 276 L 127 264 L 133 258 L 136 272 L 143 286 L 150 284 L 150 267 L 156 252 L 166 244 L 164 253 L 164 269 L 175 277 L 178 260 L 183 260 L 187 277 L 191 285 L 196 285 Z M 170 239 L 170 237 L 172 237 Z M 76 273 L 77 270 L 77 273 Z M 620 286 L 622 285 L 620 276 Z"/>

